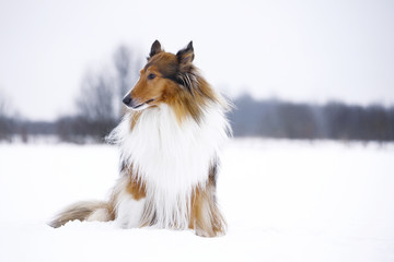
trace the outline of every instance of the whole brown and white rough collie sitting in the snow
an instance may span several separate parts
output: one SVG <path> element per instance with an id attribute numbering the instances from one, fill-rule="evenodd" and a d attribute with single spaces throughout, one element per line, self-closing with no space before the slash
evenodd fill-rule
<path id="1" fill-rule="evenodd" d="M 107 202 L 80 202 L 50 225 L 115 221 L 120 227 L 194 229 L 215 237 L 227 224 L 216 198 L 220 148 L 231 133 L 228 103 L 201 76 L 193 43 L 176 55 L 155 40 L 127 111 L 108 140 L 120 150 L 120 178 Z"/>

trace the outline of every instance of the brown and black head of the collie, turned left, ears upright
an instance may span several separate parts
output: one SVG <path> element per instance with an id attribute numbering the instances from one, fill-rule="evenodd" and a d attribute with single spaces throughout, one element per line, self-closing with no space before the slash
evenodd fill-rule
<path id="1" fill-rule="evenodd" d="M 194 78 L 193 43 L 176 55 L 165 52 L 155 40 L 151 47 L 148 62 L 140 71 L 136 86 L 125 96 L 123 103 L 134 109 L 142 110 L 161 103 L 171 104 L 179 94 L 193 95 Z"/>

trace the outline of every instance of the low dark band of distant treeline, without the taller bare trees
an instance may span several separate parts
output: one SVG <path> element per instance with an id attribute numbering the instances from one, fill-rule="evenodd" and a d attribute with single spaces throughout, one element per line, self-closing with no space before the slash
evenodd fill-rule
<path id="1" fill-rule="evenodd" d="M 328 103 L 311 105 L 277 99 L 255 100 L 243 96 L 233 102 L 229 114 L 234 136 L 279 139 L 329 139 L 358 141 L 394 141 L 394 107 L 367 107 Z M 69 116 L 54 122 L 22 121 L 0 118 L 0 140 L 22 141 L 36 135 L 54 135 L 60 141 L 104 142 L 104 136 L 119 119 Z"/>

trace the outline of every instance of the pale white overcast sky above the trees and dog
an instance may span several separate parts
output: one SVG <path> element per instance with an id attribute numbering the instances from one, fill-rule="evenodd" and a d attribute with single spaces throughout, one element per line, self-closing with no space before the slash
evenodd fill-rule
<path id="1" fill-rule="evenodd" d="M 172 52 L 193 40 L 231 96 L 394 105 L 392 0 L 0 0 L 0 94 L 55 119 L 88 70 L 108 69 L 121 44 L 146 57 L 154 39 Z"/>

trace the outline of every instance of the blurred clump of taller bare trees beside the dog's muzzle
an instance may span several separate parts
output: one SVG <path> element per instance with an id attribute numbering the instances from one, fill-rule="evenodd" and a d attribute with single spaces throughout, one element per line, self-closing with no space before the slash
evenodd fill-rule
<path id="1" fill-rule="evenodd" d="M 130 48 L 120 46 L 113 57 L 114 70 L 86 73 L 76 99 L 77 116 L 57 121 L 60 139 L 77 143 L 86 139 L 103 141 L 124 112 L 121 98 L 136 82 L 141 61 Z"/>

